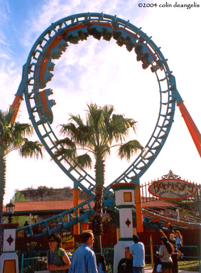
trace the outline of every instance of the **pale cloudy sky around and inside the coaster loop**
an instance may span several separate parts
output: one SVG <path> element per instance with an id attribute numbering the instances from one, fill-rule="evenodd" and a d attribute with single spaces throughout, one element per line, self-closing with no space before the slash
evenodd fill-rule
<path id="1" fill-rule="evenodd" d="M 187 4 L 192 7 L 183 6 Z M 51 23 L 82 12 L 117 15 L 152 36 L 168 59 L 177 89 L 201 132 L 201 6 L 192 0 L 0 0 L 0 109 L 6 111 L 12 104 L 22 66 L 40 34 Z M 90 37 L 78 45 L 70 45 L 54 63 L 54 77 L 49 86 L 54 92 L 51 99 L 57 103 L 52 108 L 52 128 L 58 136 L 58 125 L 67 123 L 69 113 L 84 118 L 86 104 L 93 102 L 100 106 L 112 104 L 116 113 L 137 121 L 136 136 L 130 137 L 146 145 L 159 113 L 159 87 L 154 74 L 149 68 L 141 68 L 133 52 L 117 46 L 114 39 L 107 42 Z M 16 121 L 30 122 L 25 100 Z M 33 139 L 38 140 L 36 133 Z M 117 159 L 114 152 L 106 162 L 105 185 L 112 183 L 129 165 Z M 16 189 L 73 186 L 46 151 L 43 160 L 22 159 L 17 152 L 10 153 L 6 168 L 4 204 Z M 170 169 L 182 179 L 201 183 L 201 158 L 178 107 L 165 145 L 140 183 L 160 179 Z M 94 176 L 93 171 L 91 174 Z"/>

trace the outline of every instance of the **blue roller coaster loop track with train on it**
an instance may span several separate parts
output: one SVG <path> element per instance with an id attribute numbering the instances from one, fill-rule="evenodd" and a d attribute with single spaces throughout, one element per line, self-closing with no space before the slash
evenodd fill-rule
<path id="1" fill-rule="evenodd" d="M 74 185 L 81 188 L 91 196 L 91 199 L 82 203 L 71 210 L 67 210 L 59 215 L 53 216 L 47 220 L 34 225 L 40 225 L 43 234 L 58 232 L 63 228 L 83 221 L 93 213 L 90 202 L 94 199 L 95 179 L 85 170 L 77 170 L 65 157 L 59 159 L 54 157 L 54 152 L 61 145 L 56 145 L 58 140 L 56 134 L 51 128 L 53 122 L 52 106 L 54 101 L 49 99 L 52 94 L 50 88 L 45 89 L 47 82 L 52 79 L 52 71 L 55 64 L 54 59 L 59 59 L 66 51 L 68 43 L 77 44 L 78 41 L 86 40 L 88 36 L 100 40 L 101 37 L 107 41 L 111 38 L 117 40 L 119 46 L 125 45 L 127 50 L 136 54 L 137 61 L 142 62 L 142 69 L 150 68 L 152 74 L 155 74 L 160 94 L 160 107 L 158 119 L 147 144 L 145 151 L 141 152 L 129 168 L 114 180 L 109 186 L 104 188 L 103 206 L 109 209 L 115 208 L 115 199 L 111 186 L 120 183 L 137 182 L 139 178 L 150 167 L 155 158 L 161 151 L 174 122 L 175 105 L 182 100 L 176 88 L 175 77 L 167 65 L 167 59 L 164 58 L 160 48 L 152 41 L 152 37 L 142 32 L 130 21 L 118 18 L 116 15 L 103 13 L 79 13 L 67 16 L 55 23 L 52 23 L 34 43 L 26 64 L 23 67 L 22 80 L 17 90 L 20 97 L 25 95 L 26 106 L 32 125 L 58 166 L 73 181 Z M 133 53 L 132 53 L 133 54 Z M 158 91 L 158 90 L 156 90 Z M 88 204 L 88 209 L 84 205 Z M 77 208 L 82 208 L 84 212 L 79 216 Z M 75 216 L 71 213 L 74 211 Z M 70 221 L 65 221 L 64 216 L 69 215 Z M 51 229 L 48 222 L 54 220 L 57 228 Z M 28 226 L 18 228 L 26 229 L 33 235 L 32 227 Z"/>

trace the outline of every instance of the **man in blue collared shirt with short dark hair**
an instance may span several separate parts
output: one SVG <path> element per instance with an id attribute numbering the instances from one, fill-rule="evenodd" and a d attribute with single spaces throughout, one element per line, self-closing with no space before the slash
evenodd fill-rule
<path id="1" fill-rule="evenodd" d="M 81 246 L 71 256 L 69 273 L 98 273 L 96 256 L 91 250 L 94 242 L 92 230 L 81 233 Z"/>

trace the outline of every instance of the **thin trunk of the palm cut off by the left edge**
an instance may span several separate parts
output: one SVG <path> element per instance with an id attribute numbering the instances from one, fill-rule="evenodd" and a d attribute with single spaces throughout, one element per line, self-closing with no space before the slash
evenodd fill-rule
<path id="1" fill-rule="evenodd" d="M 5 170 L 6 160 L 0 151 L 0 255 L 2 253 L 3 246 L 3 228 L 2 228 L 2 210 L 3 210 L 3 196 L 5 193 Z"/>

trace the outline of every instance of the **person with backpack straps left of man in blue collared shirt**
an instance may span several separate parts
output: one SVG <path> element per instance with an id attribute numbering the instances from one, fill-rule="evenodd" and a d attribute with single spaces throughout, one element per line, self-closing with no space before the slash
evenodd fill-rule
<path id="1" fill-rule="evenodd" d="M 48 235 L 50 250 L 47 252 L 47 270 L 51 273 L 67 273 L 70 267 L 70 260 L 66 251 L 61 248 L 62 239 L 59 234 Z"/>

